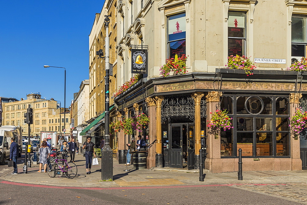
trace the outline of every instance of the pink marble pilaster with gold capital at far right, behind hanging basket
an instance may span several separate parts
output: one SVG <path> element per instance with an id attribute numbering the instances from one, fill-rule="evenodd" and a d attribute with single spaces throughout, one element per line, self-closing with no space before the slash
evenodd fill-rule
<path id="1" fill-rule="evenodd" d="M 290 117 L 293 116 L 297 107 L 299 107 L 299 100 L 302 94 L 290 93 Z M 295 134 L 291 131 L 290 135 L 290 156 L 291 156 L 291 170 L 302 170 L 302 161 L 300 155 L 300 138 L 295 137 Z"/>

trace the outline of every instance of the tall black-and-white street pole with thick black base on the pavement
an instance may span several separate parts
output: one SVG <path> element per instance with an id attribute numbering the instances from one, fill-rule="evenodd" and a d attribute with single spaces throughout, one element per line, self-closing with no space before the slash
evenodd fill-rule
<path id="1" fill-rule="evenodd" d="M 113 151 L 110 147 L 110 97 L 109 97 L 109 84 L 110 84 L 110 38 L 109 38 L 109 23 L 110 23 L 110 16 L 105 15 L 106 17 L 104 19 L 104 23 L 106 25 L 106 38 L 105 38 L 105 71 L 106 71 L 106 76 L 105 76 L 105 87 L 104 87 L 104 92 L 105 92 L 105 124 L 104 124 L 104 129 L 105 129 L 105 135 L 104 135 L 104 140 L 105 140 L 105 146 L 101 150 L 101 180 L 113 180 Z"/>

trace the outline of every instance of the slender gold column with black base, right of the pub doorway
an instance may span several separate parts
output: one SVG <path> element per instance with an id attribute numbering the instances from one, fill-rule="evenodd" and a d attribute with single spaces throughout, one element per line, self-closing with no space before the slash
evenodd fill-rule
<path id="1" fill-rule="evenodd" d="M 200 100 L 204 97 L 204 93 L 193 93 L 191 97 L 194 99 L 195 107 L 195 155 L 194 155 L 194 168 L 199 168 L 199 150 L 201 148 L 200 144 Z"/>

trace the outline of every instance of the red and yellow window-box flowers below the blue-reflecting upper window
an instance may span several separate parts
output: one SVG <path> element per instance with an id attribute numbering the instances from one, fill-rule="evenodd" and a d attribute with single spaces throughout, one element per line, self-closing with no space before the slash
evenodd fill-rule
<path id="1" fill-rule="evenodd" d="M 166 59 L 165 64 L 160 68 L 160 75 L 166 77 L 171 72 L 173 72 L 173 75 L 186 74 L 188 72 L 186 68 L 187 59 L 188 56 L 185 54 L 182 54 L 180 57 L 176 54 L 175 58 Z"/>

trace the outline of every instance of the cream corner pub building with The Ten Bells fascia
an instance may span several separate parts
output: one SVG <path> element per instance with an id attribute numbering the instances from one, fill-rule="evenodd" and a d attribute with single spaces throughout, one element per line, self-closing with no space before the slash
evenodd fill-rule
<path id="1" fill-rule="evenodd" d="M 128 3 L 119 1 L 122 16 L 126 7 L 136 9 Z M 306 1 L 149 0 L 138 9 L 131 19 L 118 17 L 125 25 L 118 29 L 118 85 L 131 76 L 134 45 L 148 46 L 148 72 L 114 101 L 119 120 L 150 116 L 148 128 L 133 134 L 150 145 L 147 168 L 197 169 L 204 149 L 206 169 L 234 172 L 239 148 L 244 171 L 307 168 L 307 135 L 289 128 L 295 109 L 307 110 L 307 76 L 286 70 L 306 57 Z M 188 73 L 160 77 L 175 54 L 188 55 Z M 250 56 L 253 75 L 225 69 L 236 54 Z M 216 109 L 229 110 L 233 129 L 210 132 Z M 117 133 L 119 150 L 130 137 Z"/>

